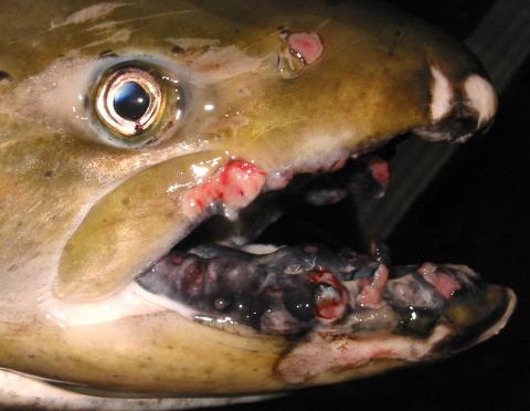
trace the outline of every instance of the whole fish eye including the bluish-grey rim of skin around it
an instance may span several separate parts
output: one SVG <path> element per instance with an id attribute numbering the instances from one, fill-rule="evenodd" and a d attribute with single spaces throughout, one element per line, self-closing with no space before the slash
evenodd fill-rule
<path id="1" fill-rule="evenodd" d="M 119 149 L 149 149 L 176 137 L 192 102 L 188 72 L 147 55 L 103 61 L 86 89 L 91 137 Z"/>

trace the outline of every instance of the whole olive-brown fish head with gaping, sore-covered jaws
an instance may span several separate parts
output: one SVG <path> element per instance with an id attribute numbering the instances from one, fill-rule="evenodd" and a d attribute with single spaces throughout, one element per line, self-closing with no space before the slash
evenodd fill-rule
<path id="1" fill-rule="evenodd" d="M 513 294 L 468 268 L 398 275 L 237 235 L 299 176 L 489 125 L 495 92 L 464 48 L 372 2 L 78 6 L 2 10 L 1 367 L 237 394 L 432 360 L 504 326 Z M 214 215 L 237 247 L 179 250 Z"/>

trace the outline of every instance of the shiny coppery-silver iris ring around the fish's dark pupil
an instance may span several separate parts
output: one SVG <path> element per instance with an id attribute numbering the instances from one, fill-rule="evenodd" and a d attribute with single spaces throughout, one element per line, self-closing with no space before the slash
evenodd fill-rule
<path id="1" fill-rule="evenodd" d="M 139 85 L 149 97 L 149 104 L 138 119 L 126 118 L 116 110 L 117 95 L 127 83 Z M 134 137 L 156 123 L 165 102 L 163 93 L 151 74 L 137 67 L 124 67 L 106 78 L 97 91 L 95 105 L 96 113 L 104 124 L 124 137 Z"/>

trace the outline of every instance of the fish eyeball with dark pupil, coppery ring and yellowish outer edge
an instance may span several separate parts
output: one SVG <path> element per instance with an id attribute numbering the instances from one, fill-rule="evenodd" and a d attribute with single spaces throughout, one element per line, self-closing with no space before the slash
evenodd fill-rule
<path id="1" fill-rule="evenodd" d="M 153 144 L 183 119 L 180 80 L 147 62 L 125 61 L 109 67 L 93 93 L 95 130 L 113 146 L 140 148 Z"/>

